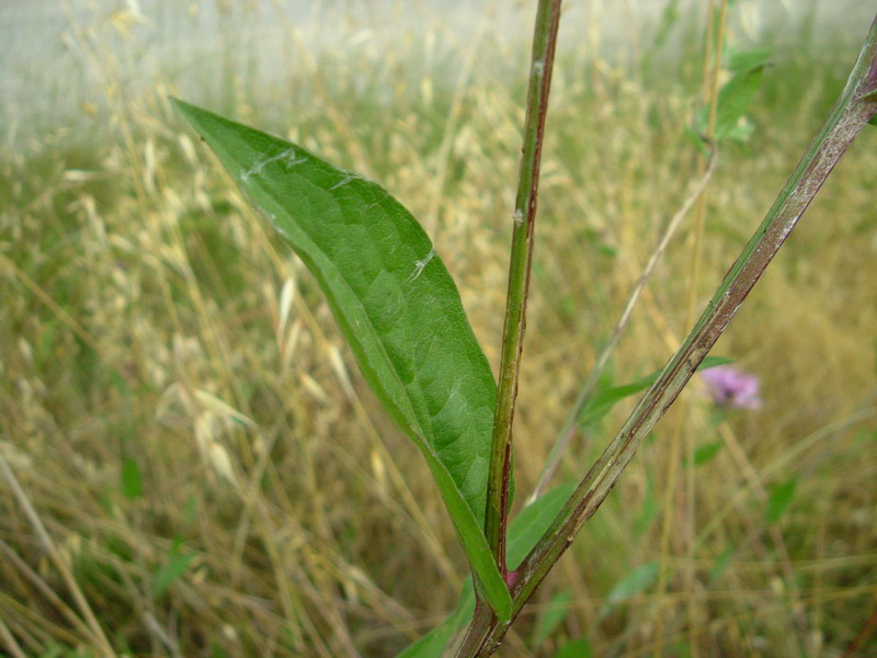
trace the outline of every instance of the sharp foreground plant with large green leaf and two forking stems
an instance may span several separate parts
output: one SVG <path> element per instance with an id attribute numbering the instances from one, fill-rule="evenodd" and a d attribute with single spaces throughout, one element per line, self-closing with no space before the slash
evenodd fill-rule
<path id="1" fill-rule="evenodd" d="M 510 523 L 512 424 L 559 19 L 559 0 L 539 1 L 512 214 L 498 386 L 435 247 L 386 191 L 298 146 L 176 101 L 232 178 L 315 274 L 363 375 L 421 450 L 435 477 L 475 587 L 464 591 L 460 605 L 444 624 L 402 654 L 409 658 L 442 655 L 447 647 L 460 657 L 487 656 L 498 648 L 514 617 L 701 366 L 840 157 L 877 113 L 875 21 L 823 127 L 615 440 L 574 489 L 561 487 L 536 498 L 516 523 Z M 714 95 L 710 111 L 698 115 L 696 127 L 706 137 L 745 136 L 737 120 L 761 66 L 750 66 L 734 77 L 724 93 Z M 593 395 L 595 382 L 581 401 L 593 413 L 601 404 Z M 625 392 L 633 394 L 638 386 Z M 775 492 L 770 514 L 778 518 L 794 483 L 777 492 L 785 494 Z M 657 570 L 650 563 L 633 572 L 619 583 L 616 599 L 653 580 Z"/>

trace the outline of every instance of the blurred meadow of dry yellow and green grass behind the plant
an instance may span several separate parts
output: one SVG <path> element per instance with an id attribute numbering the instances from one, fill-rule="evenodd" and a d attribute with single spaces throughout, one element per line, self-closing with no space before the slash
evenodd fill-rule
<path id="1" fill-rule="evenodd" d="M 526 39 L 490 19 L 459 39 L 424 13 L 424 38 L 312 55 L 278 22 L 296 66 L 271 83 L 236 50 L 218 84 L 133 91 L 117 53 L 136 36 L 94 15 L 69 34 L 100 97 L 0 150 L 0 656 L 395 656 L 454 606 L 453 529 L 316 283 L 167 97 L 380 182 L 433 238 L 496 371 Z M 738 18 L 731 46 L 774 50 L 751 136 L 720 147 L 614 384 L 675 350 L 867 30 L 759 41 Z M 519 507 L 698 175 L 702 27 L 631 27 L 617 47 L 599 24 L 561 32 Z M 695 378 L 499 656 L 580 638 L 599 657 L 877 656 L 876 140 L 853 145 L 714 350 L 760 377 L 761 408 L 721 411 Z M 576 436 L 554 483 L 584 474 L 635 399 Z"/>

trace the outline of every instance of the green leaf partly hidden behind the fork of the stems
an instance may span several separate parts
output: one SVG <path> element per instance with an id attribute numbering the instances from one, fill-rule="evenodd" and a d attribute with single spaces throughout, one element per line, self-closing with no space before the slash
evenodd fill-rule
<path id="1" fill-rule="evenodd" d="M 512 520 L 506 540 L 506 559 L 512 569 L 521 566 L 574 489 L 574 483 L 555 487 L 525 507 Z M 441 658 L 447 644 L 471 621 L 474 612 L 475 594 L 471 581 L 467 579 L 456 610 L 438 626 L 408 646 L 397 658 Z"/>

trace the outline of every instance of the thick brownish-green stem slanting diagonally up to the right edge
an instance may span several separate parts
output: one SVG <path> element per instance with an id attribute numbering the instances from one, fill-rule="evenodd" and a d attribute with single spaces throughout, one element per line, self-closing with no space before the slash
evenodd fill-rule
<path id="1" fill-rule="evenodd" d="M 764 269 L 773 260 L 834 166 L 869 120 L 877 115 L 877 18 L 858 61 L 822 128 L 781 191 L 764 222 L 719 285 L 682 347 L 603 455 L 579 484 L 551 526 L 524 559 L 511 587 L 512 620 L 597 510 L 633 458 L 639 444 L 673 404 L 695 370 L 725 331 Z M 510 624 L 499 624 L 485 606 L 457 650 L 458 658 L 490 656 Z"/>

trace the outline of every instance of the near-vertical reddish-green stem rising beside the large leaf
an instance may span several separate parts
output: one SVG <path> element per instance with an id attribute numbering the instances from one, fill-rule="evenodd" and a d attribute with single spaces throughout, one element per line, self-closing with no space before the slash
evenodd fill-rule
<path id="1" fill-rule="evenodd" d="M 548 91 L 551 86 L 557 30 L 560 23 L 560 2 L 561 0 L 539 0 L 536 9 L 527 109 L 524 120 L 524 146 L 513 215 L 509 288 L 505 299 L 499 390 L 493 415 L 493 438 L 485 514 L 485 535 L 503 577 L 506 575 L 505 527 L 509 512 L 512 422 L 526 327 L 539 163 L 545 117 L 548 112 Z"/>

